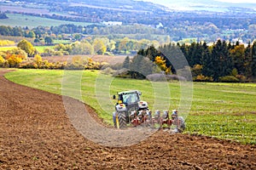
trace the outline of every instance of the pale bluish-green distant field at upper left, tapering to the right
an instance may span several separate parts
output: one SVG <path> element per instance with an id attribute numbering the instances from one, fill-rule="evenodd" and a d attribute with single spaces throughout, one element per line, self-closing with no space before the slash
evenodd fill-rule
<path id="1" fill-rule="evenodd" d="M 90 23 L 72 22 L 65 20 L 53 20 L 37 16 L 30 16 L 25 14 L 7 14 L 9 19 L 0 20 L 3 26 L 21 26 L 21 27 L 37 27 L 37 26 L 60 26 L 64 24 L 74 24 L 76 26 L 88 26 Z"/>

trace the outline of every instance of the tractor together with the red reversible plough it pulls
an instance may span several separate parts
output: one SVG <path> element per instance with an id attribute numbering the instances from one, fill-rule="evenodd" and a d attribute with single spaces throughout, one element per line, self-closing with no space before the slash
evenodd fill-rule
<path id="1" fill-rule="evenodd" d="M 166 125 L 169 129 L 172 125 L 176 126 L 175 132 L 181 133 L 185 128 L 185 122 L 182 116 L 177 115 L 177 110 L 172 111 L 169 116 L 169 111 L 155 111 L 154 116 L 148 109 L 148 103 L 142 101 L 140 96 L 142 93 L 138 90 L 120 92 L 118 94 L 118 102 L 115 105 L 113 112 L 113 124 L 116 128 L 125 128 L 127 124 L 132 124 L 134 127 L 139 125 L 154 127 L 158 124 L 160 128 Z M 113 95 L 116 99 L 116 95 Z"/>

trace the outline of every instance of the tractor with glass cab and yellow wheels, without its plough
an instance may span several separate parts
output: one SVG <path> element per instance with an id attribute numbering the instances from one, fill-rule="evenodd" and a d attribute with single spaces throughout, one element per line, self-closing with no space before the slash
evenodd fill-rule
<path id="1" fill-rule="evenodd" d="M 113 124 L 116 128 L 125 128 L 127 124 L 133 122 L 132 118 L 138 111 L 149 111 L 148 103 L 142 101 L 140 96 L 142 93 L 138 90 L 130 90 L 120 92 L 118 94 L 118 102 L 113 112 Z M 116 95 L 113 95 L 116 99 Z"/>

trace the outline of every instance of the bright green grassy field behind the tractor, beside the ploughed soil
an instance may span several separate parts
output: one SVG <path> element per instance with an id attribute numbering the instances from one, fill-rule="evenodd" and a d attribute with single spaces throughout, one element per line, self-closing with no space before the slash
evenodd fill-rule
<path id="1" fill-rule="evenodd" d="M 6 77 L 11 81 L 32 88 L 61 94 L 62 77 L 65 75 L 67 81 L 70 82 L 68 85 L 64 83 L 71 92 L 68 95 L 80 99 L 80 96 L 75 94 L 76 91 L 79 91 L 76 87 L 79 84 L 79 78 L 75 77 L 80 77 L 81 73 L 81 71 L 19 70 L 9 72 Z M 149 107 L 153 111 L 168 109 L 165 108 L 165 105 L 170 100 L 170 110 L 179 105 L 181 88 L 178 82 L 168 83 L 169 90 L 167 88 L 166 90 L 160 82 L 152 84 L 148 81 L 114 78 L 110 87 L 105 89 L 106 81 L 102 83 L 100 80 L 105 78 L 109 80 L 111 77 L 102 76 L 99 71 L 83 71 L 82 74 L 82 99 L 94 107 L 99 116 L 102 116 L 106 122 L 111 122 L 111 113 L 115 103 L 110 99 L 109 91 L 110 94 L 115 94 L 127 89 L 139 89 L 143 93 L 143 99 L 148 101 Z M 69 77 L 70 75 L 75 77 Z M 153 86 L 160 86 L 160 91 L 157 92 L 158 90 L 154 89 Z M 97 87 L 100 87 L 100 90 Z M 100 94 L 99 96 L 96 94 L 96 89 Z M 193 90 L 193 104 L 186 119 L 187 133 L 200 133 L 222 139 L 236 139 L 242 143 L 256 144 L 256 84 L 194 83 Z M 154 93 L 156 93 L 156 100 L 160 102 L 154 102 Z M 100 99 L 101 105 L 96 99 Z"/>

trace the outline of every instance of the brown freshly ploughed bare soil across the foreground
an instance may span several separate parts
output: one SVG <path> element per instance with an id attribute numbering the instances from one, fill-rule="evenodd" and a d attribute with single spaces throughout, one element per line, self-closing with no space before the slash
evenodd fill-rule
<path id="1" fill-rule="evenodd" d="M 0 72 L 0 169 L 256 169 L 255 146 L 208 137 L 159 131 L 131 147 L 94 144 L 69 122 L 61 96 Z"/>

